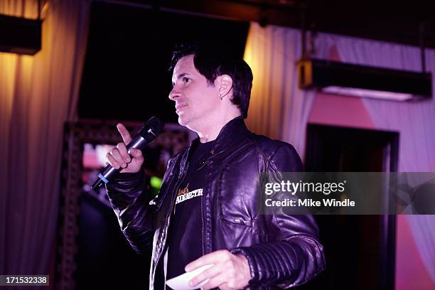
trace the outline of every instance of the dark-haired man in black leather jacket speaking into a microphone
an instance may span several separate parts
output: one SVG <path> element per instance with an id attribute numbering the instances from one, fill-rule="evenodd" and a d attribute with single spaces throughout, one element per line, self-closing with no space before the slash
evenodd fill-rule
<path id="1" fill-rule="evenodd" d="M 150 289 L 212 264 L 190 280 L 202 289 L 269 289 L 296 286 L 324 268 L 316 222 L 309 215 L 262 215 L 257 208 L 260 172 L 301 171 L 293 146 L 252 134 L 247 117 L 252 72 L 240 58 L 210 46 L 173 53 L 178 122 L 198 133 L 168 164 L 159 195 L 142 190 L 144 157 L 127 154 L 131 136 L 107 162 L 122 168 L 107 193 L 127 240 L 137 251 L 153 247 Z M 199 287 L 198 287 L 199 288 Z"/>

